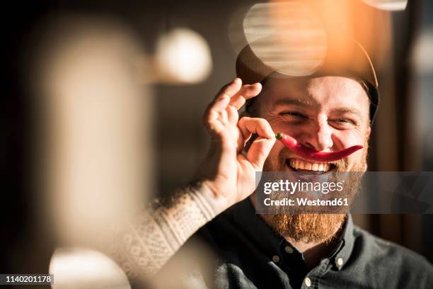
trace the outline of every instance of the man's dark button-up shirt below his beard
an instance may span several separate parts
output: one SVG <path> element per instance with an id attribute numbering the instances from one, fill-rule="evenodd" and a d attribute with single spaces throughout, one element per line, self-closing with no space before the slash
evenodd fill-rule
<path id="1" fill-rule="evenodd" d="M 379 239 L 347 217 L 335 250 L 309 270 L 302 254 L 276 234 L 246 199 L 202 227 L 194 238 L 215 252 L 209 288 L 433 288 L 433 266 Z"/>

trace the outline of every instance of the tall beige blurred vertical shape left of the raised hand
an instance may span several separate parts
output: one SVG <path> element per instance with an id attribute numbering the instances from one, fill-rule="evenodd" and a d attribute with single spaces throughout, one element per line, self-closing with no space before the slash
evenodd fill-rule
<path id="1" fill-rule="evenodd" d="M 135 63 L 144 52 L 106 19 L 59 16 L 35 34 L 42 217 L 57 246 L 96 245 L 154 191 L 153 98 Z"/>

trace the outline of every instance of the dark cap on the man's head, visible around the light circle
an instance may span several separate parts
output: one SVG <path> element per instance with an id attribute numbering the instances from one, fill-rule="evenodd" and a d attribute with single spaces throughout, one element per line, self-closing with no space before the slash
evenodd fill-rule
<path id="1" fill-rule="evenodd" d="M 333 44 L 332 41 L 328 41 L 328 50 L 321 66 L 308 77 L 338 76 L 362 81 L 367 86 L 366 91 L 370 98 L 370 123 L 373 123 L 379 107 L 379 83 L 373 64 L 359 42 L 347 38 L 344 53 L 341 53 L 340 44 L 341 42 Z M 244 84 L 262 82 L 274 72 L 275 69 L 267 66 L 255 55 L 250 45 L 243 47 L 239 52 L 236 59 L 236 75 Z"/>

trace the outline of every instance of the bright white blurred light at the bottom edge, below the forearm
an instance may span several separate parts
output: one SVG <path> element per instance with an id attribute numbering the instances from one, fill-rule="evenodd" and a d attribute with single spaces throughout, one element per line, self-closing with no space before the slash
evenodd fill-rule
<path id="1" fill-rule="evenodd" d="M 131 288 L 114 261 L 91 249 L 57 249 L 50 261 L 50 274 L 54 274 L 52 288 Z"/>

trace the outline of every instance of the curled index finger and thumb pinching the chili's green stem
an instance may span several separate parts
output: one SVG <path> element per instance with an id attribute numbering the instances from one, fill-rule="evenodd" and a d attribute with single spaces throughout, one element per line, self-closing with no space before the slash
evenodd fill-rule
<path id="1" fill-rule="evenodd" d="M 270 124 L 262 118 L 241 118 L 238 127 L 243 140 L 247 140 L 253 133 L 258 134 L 258 138 L 248 149 L 246 158 L 256 169 L 262 169 L 267 155 L 275 144 L 275 134 Z"/>

